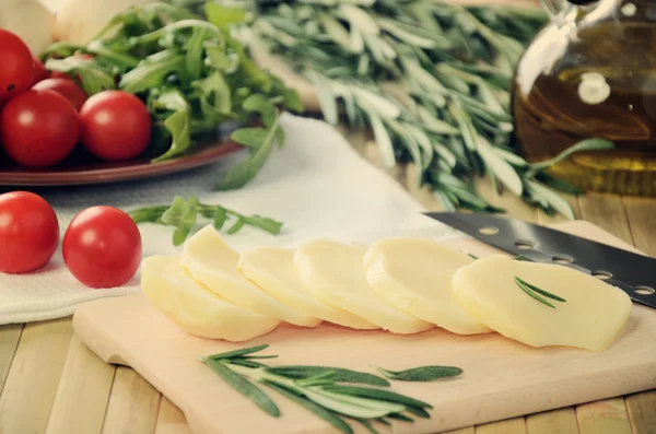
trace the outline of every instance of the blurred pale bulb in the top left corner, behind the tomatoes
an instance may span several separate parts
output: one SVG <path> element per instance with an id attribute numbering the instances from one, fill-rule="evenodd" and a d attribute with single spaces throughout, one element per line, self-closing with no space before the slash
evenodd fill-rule
<path id="1" fill-rule="evenodd" d="M 0 27 L 15 33 L 37 55 L 52 43 L 55 17 L 38 0 L 0 1 Z"/>

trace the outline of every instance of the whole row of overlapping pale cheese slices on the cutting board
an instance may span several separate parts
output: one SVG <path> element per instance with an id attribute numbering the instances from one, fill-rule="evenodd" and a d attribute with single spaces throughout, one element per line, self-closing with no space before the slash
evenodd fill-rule
<path id="1" fill-rule="evenodd" d="M 457 335 L 496 331 L 531 347 L 607 348 L 631 310 L 622 291 L 558 265 L 495 255 L 475 260 L 435 241 L 380 239 L 371 246 L 314 239 L 297 249 L 233 250 L 207 226 L 179 257 L 142 263 L 150 302 L 185 331 L 245 341 L 282 321 L 355 330 Z M 517 279 L 557 294 L 544 304 Z M 539 296 L 539 294 L 538 294 Z"/>

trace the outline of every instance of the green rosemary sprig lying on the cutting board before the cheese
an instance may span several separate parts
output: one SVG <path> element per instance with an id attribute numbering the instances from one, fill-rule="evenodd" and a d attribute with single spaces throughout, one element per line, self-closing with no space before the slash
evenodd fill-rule
<path id="1" fill-rule="evenodd" d="M 201 360 L 236 391 L 274 418 L 280 415 L 278 407 L 254 383 L 260 383 L 298 403 L 345 434 L 353 433 L 347 420 L 354 420 L 375 433 L 374 422 L 389 425 L 387 419 L 412 422 L 410 415 L 431 418 L 429 410 L 433 407 L 430 403 L 385 389 L 389 383 L 372 374 L 327 366 L 267 366 L 255 362 L 272 357 L 254 355 L 267 347 L 263 344 L 212 354 Z M 442 370 L 440 374 L 445 376 L 444 366 L 399 373 L 385 371 L 384 374 L 388 373 L 393 379 L 411 377 L 412 380 L 430 380 L 436 377 L 435 368 Z M 456 367 L 449 370 L 449 376 L 461 372 Z M 364 386 L 355 386 L 354 383 Z"/>

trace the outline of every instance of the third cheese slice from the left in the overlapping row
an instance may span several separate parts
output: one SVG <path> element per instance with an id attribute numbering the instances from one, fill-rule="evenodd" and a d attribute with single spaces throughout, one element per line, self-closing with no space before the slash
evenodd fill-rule
<path id="1" fill-rule="evenodd" d="M 378 328 L 359 316 L 323 302 L 303 288 L 294 265 L 293 249 L 256 247 L 242 253 L 237 268 L 246 278 L 293 309 L 354 329 Z"/>

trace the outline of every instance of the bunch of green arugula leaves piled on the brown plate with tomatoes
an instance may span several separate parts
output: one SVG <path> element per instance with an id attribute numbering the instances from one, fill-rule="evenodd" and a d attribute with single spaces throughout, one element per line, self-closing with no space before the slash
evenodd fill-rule
<path id="1" fill-rule="evenodd" d="M 243 8 L 208 2 L 208 22 L 186 9 L 187 1 L 175 3 L 179 5 L 153 2 L 127 9 L 86 46 L 56 44 L 44 54 L 46 68 L 69 74 L 89 95 L 120 89 L 142 98 L 153 119 L 153 140 L 144 155 L 155 163 L 214 140 L 226 120 L 246 127 L 259 117 L 262 127 L 234 132 L 233 140 L 251 154 L 218 186 L 239 188 L 262 167 L 273 142 L 282 145 L 280 112 L 301 112 L 303 105 L 295 91 L 259 69 L 231 36 L 231 27 L 248 19 Z M 231 231 L 245 224 L 237 220 Z"/>

